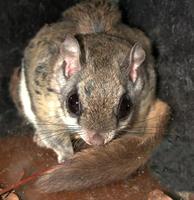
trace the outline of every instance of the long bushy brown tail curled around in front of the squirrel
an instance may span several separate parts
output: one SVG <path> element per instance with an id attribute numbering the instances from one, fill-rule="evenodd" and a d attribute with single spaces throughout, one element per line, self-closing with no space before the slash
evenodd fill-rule
<path id="1" fill-rule="evenodd" d="M 45 174 L 37 182 L 44 191 L 78 190 L 127 178 L 150 158 L 161 141 L 169 116 L 169 107 L 157 100 L 147 118 L 142 137 L 125 135 L 104 147 L 80 153 L 60 168 Z"/>

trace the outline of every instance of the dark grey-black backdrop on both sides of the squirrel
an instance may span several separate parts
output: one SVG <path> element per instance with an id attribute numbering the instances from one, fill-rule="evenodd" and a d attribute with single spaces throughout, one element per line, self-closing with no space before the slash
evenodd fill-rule
<path id="1" fill-rule="evenodd" d="M 29 39 L 56 21 L 72 0 L 0 0 L 0 134 L 20 126 L 8 82 Z M 151 166 L 162 182 L 194 191 L 194 1 L 121 0 L 123 20 L 151 38 L 158 96 L 172 107 L 168 136 Z"/>

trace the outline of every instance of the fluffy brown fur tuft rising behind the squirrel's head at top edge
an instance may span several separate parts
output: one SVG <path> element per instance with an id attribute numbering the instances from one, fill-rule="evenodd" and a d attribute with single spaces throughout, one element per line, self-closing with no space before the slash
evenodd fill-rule
<path id="1" fill-rule="evenodd" d="M 110 30 L 121 20 L 118 0 L 84 0 L 63 13 L 63 20 L 72 21 L 78 32 L 99 33 Z"/>

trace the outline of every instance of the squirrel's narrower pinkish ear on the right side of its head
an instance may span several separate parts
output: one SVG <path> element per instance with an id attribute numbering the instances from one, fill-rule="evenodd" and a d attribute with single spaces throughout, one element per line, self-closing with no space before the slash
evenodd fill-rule
<path id="1" fill-rule="evenodd" d="M 145 51 L 140 43 L 135 43 L 129 55 L 129 75 L 133 82 L 137 80 L 138 68 L 145 60 Z"/>

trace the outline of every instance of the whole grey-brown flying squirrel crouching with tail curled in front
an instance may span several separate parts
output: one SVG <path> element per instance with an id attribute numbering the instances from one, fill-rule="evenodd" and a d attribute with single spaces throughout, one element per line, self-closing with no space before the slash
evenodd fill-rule
<path id="1" fill-rule="evenodd" d="M 122 23 L 116 3 L 81 1 L 45 25 L 24 51 L 15 101 L 34 126 L 34 141 L 64 162 L 38 188 L 99 186 L 144 165 L 169 116 L 155 87 L 150 41 Z M 92 147 L 74 154 L 72 137 Z"/>

